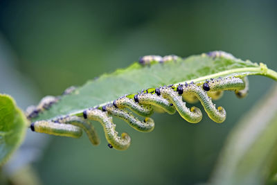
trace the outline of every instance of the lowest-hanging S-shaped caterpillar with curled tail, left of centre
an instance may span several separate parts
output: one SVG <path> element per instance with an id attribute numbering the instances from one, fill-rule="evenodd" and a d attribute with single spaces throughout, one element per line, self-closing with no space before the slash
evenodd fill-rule
<path id="1" fill-rule="evenodd" d="M 102 112 L 100 109 L 86 109 L 83 112 L 84 118 L 93 121 L 99 121 L 104 128 L 105 136 L 109 144 L 117 150 L 126 150 L 130 143 L 131 138 L 127 133 L 118 136 L 116 132 L 116 125 L 112 123 L 112 118 L 107 115 L 107 112 Z"/>

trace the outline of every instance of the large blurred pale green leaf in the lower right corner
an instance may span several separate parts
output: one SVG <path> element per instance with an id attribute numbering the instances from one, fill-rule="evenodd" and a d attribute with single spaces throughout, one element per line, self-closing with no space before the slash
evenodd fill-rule
<path id="1" fill-rule="evenodd" d="M 239 121 L 227 138 L 211 184 L 265 184 L 276 174 L 276 102 L 275 85 Z"/>

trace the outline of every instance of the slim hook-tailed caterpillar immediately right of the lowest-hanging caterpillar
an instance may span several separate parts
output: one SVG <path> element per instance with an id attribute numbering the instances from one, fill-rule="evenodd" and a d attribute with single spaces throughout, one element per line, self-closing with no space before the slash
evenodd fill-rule
<path id="1" fill-rule="evenodd" d="M 145 118 L 145 120 L 139 121 L 138 118 L 134 117 L 132 113 L 126 112 L 123 109 L 118 109 L 113 105 L 106 105 L 102 107 L 102 111 L 107 111 L 111 116 L 116 116 L 127 122 L 131 127 L 141 132 L 151 132 L 154 129 L 154 121 L 152 118 Z"/>

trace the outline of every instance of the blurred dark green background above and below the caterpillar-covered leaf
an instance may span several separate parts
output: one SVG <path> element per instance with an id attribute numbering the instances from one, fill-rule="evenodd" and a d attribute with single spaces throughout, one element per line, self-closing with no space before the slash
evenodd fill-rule
<path id="1" fill-rule="evenodd" d="M 276 8 L 277 1 L 0 1 L 0 92 L 25 109 L 149 54 L 222 50 L 277 70 Z M 223 124 L 206 114 L 197 125 L 154 114 L 155 130 L 140 133 L 117 120 L 118 131 L 132 136 L 124 152 L 110 150 L 96 124 L 100 146 L 87 136 L 46 136 L 35 169 L 42 184 L 207 182 L 227 134 L 273 83 L 249 80 L 247 98 L 230 92 L 216 101 L 228 114 Z"/>

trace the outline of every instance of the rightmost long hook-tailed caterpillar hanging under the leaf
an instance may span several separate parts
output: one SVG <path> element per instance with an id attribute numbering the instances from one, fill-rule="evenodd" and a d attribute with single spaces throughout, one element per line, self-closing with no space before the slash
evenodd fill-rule
<path id="1" fill-rule="evenodd" d="M 196 96 L 200 100 L 208 116 L 216 123 L 222 123 L 225 120 L 225 109 L 223 107 L 218 107 L 218 109 L 216 109 L 211 98 L 201 87 L 194 84 L 185 86 L 179 85 L 177 91 L 179 94 L 183 94 L 183 96 Z"/>

